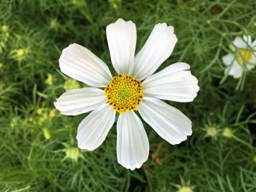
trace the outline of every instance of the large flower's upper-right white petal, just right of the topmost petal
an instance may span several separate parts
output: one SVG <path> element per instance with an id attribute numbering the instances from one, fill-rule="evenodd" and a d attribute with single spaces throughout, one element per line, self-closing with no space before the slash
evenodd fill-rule
<path id="1" fill-rule="evenodd" d="M 144 80 L 171 55 L 177 42 L 174 27 L 167 27 L 166 23 L 156 24 L 146 44 L 135 58 L 133 76 Z"/>

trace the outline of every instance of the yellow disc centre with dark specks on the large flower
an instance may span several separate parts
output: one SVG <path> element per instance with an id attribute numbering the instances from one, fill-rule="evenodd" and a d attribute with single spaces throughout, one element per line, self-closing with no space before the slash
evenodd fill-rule
<path id="1" fill-rule="evenodd" d="M 116 75 L 105 87 L 110 106 L 119 113 L 138 110 L 143 95 L 141 82 L 131 75 Z"/>

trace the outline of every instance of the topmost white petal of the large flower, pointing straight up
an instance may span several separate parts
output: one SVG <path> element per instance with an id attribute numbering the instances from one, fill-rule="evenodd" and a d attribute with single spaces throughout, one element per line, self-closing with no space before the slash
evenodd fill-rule
<path id="1" fill-rule="evenodd" d="M 113 67 L 118 74 L 131 74 L 136 49 L 136 25 L 118 19 L 107 27 L 108 47 Z"/>

